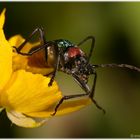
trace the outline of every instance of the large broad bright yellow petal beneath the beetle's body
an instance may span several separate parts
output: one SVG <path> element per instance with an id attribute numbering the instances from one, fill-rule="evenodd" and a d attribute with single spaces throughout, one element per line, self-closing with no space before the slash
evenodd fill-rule
<path id="1" fill-rule="evenodd" d="M 41 74 L 14 72 L 1 95 L 2 106 L 24 114 L 47 109 L 62 97 L 56 82 L 48 87 L 49 81 L 50 78 Z"/>

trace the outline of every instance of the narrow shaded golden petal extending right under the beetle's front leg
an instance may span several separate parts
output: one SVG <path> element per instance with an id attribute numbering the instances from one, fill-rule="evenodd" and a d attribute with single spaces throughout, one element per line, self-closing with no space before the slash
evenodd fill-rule
<path id="1" fill-rule="evenodd" d="M 89 98 L 82 98 L 82 99 L 77 99 L 77 100 L 72 100 L 72 101 L 64 101 L 58 108 L 58 111 L 55 114 L 55 116 L 75 112 L 77 110 L 80 110 L 83 107 L 86 107 L 90 103 L 91 103 L 91 100 Z M 52 106 L 48 108 L 47 110 L 44 110 L 41 112 L 30 112 L 28 113 L 28 115 L 32 117 L 40 117 L 40 118 L 51 117 L 50 114 L 54 113 L 54 109 L 55 107 Z"/>

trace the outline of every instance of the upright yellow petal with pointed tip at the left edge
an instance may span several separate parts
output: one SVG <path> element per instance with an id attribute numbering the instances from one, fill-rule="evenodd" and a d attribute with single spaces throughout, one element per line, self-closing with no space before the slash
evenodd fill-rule
<path id="1" fill-rule="evenodd" d="M 12 49 L 2 30 L 5 19 L 4 13 L 5 10 L 0 15 L 0 90 L 7 83 L 12 73 Z"/>

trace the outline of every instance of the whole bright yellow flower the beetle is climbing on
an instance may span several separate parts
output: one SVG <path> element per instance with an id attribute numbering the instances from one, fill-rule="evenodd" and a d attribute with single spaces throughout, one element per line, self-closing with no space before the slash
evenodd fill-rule
<path id="1" fill-rule="evenodd" d="M 24 39 L 16 35 L 7 41 L 4 22 L 5 9 L 0 15 L 0 108 L 6 110 L 12 123 L 21 127 L 38 127 L 52 117 L 62 93 L 55 81 L 48 87 L 50 78 L 43 74 L 52 69 L 41 67 L 41 61 L 36 63 L 37 55 L 25 57 L 13 51 L 12 46 L 18 46 Z M 34 45 L 27 43 L 25 50 Z M 88 98 L 64 101 L 56 115 L 74 112 L 89 103 Z"/>

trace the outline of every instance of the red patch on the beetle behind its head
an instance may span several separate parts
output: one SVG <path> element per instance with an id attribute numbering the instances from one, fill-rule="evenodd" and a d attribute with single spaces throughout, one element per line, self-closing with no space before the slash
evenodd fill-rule
<path id="1" fill-rule="evenodd" d="M 81 55 L 82 51 L 77 47 L 71 47 L 68 49 L 68 57 L 76 57 L 77 55 Z"/>

